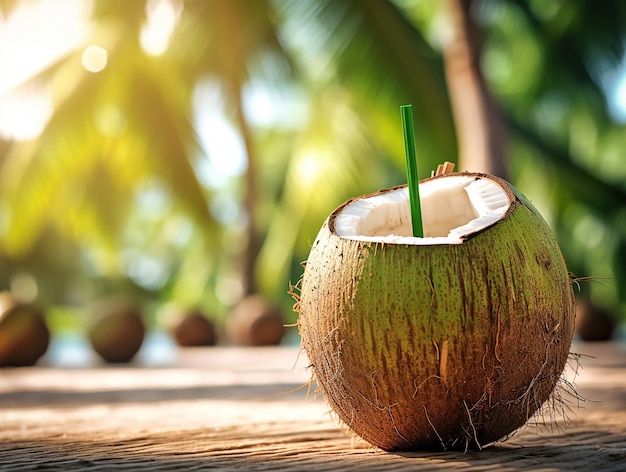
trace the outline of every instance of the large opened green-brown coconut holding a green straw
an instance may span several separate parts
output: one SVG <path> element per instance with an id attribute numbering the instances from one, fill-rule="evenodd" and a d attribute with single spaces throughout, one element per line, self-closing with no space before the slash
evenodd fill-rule
<path id="1" fill-rule="evenodd" d="M 444 174 L 420 195 L 423 238 L 406 186 L 328 217 L 296 296 L 302 346 L 331 409 L 372 445 L 480 448 L 559 384 L 572 281 L 548 224 L 504 180 Z"/>

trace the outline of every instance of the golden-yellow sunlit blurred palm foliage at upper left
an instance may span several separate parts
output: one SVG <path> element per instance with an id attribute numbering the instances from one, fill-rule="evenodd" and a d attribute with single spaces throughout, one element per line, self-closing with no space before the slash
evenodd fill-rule
<path id="1" fill-rule="evenodd" d="M 145 2 L 95 2 L 89 40 L 108 51 L 106 69 L 86 72 L 81 49 L 33 79 L 60 93 L 41 136 L 6 151 L 2 197 L 10 220 L 2 243 L 12 258 L 27 254 L 52 227 L 97 248 L 100 272 L 122 275 L 122 230 L 146 186 L 176 195 L 207 244 L 217 239 L 193 167 L 200 149 L 189 121 L 190 91 L 174 64 L 141 48 L 145 15 Z"/>

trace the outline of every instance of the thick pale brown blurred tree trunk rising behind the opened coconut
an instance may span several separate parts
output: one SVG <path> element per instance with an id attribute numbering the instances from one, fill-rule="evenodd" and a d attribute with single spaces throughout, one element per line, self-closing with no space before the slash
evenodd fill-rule
<path id="1" fill-rule="evenodd" d="M 507 177 L 504 123 L 480 69 L 473 0 L 448 0 L 452 37 L 444 48 L 446 81 L 459 142 L 459 170 Z"/>

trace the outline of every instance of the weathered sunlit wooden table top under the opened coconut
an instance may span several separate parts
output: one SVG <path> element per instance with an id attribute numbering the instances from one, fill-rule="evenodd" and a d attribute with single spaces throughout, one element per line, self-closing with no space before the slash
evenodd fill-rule
<path id="1" fill-rule="evenodd" d="M 626 343 L 575 343 L 584 400 L 467 453 L 387 453 L 307 394 L 297 347 L 0 370 L 0 470 L 626 470 Z"/>

